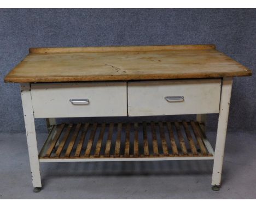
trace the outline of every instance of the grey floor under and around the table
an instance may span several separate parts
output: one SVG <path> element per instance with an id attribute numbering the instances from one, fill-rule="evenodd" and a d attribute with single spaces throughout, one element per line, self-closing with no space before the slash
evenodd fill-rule
<path id="1" fill-rule="evenodd" d="M 215 132 L 207 136 L 214 144 Z M 219 192 L 211 190 L 212 161 L 147 161 L 41 163 L 43 190 L 33 193 L 25 134 L 2 133 L 0 199 L 255 199 L 255 136 L 228 133 Z"/>

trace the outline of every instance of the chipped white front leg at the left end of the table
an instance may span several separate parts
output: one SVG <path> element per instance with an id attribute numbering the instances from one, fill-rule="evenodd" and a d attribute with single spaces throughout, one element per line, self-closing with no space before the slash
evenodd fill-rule
<path id="1" fill-rule="evenodd" d="M 34 115 L 29 83 L 21 84 L 21 100 L 26 127 L 28 155 L 30 157 L 32 183 L 33 187 L 42 187 L 39 169 L 36 130 L 34 128 Z"/>

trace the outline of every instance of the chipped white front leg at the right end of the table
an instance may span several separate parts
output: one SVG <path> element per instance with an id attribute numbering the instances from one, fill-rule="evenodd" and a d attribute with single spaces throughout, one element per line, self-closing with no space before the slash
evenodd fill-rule
<path id="1" fill-rule="evenodd" d="M 228 126 L 229 118 L 231 90 L 232 78 L 223 78 L 222 95 L 220 98 L 218 131 L 213 163 L 212 185 L 220 185 L 220 180 L 222 177 L 222 166 L 226 140 L 226 128 Z"/>

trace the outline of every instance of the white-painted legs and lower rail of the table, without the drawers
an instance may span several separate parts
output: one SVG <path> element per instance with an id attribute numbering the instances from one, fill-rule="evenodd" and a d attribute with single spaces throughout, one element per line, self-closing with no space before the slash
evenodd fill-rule
<path id="1" fill-rule="evenodd" d="M 77 158 L 77 159 L 40 159 L 38 157 L 36 130 L 34 126 L 34 114 L 32 106 L 31 85 L 30 83 L 21 84 L 21 100 L 24 111 L 24 120 L 26 127 L 26 137 L 28 145 L 28 155 L 30 158 L 30 167 L 32 174 L 33 187 L 42 187 L 40 179 L 39 162 L 94 162 L 94 161 L 161 161 L 161 160 L 214 160 L 212 185 L 220 185 L 223 167 L 223 157 L 225 149 L 226 129 L 228 125 L 230 97 L 232 90 L 232 78 L 223 78 L 222 91 L 220 95 L 220 108 L 218 131 L 216 138 L 215 152 L 210 143 L 205 140 L 207 149 L 213 154 L 212 157 L 159 157 L 159 158 Z M 206 125 L 206 115 L 198 114 L 196 120 Z M 49 125 L 56 124 L 54 118 L 48 119 Z M 204 126 L 205 126 L 204 125 Z M 205 131 L 205 130 L 204 130 Z M 51 139 L 51 137 L 48 137 Z M 47 141 L 46 141 L 47 142 Z M 42 150 L 44 151 L 44 150 Z M 41 151 L 41 152 L 42 152 Z"/>

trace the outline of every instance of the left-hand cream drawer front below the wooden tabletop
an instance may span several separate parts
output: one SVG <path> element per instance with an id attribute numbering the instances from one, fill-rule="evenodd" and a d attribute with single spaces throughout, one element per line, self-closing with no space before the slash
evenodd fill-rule
<path id="1" fill-rule="evenodd" d="M 126 93 L 126 82 L 31 84 L 34 118 L 126 116 Z"/>

